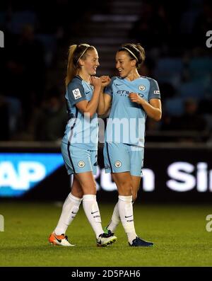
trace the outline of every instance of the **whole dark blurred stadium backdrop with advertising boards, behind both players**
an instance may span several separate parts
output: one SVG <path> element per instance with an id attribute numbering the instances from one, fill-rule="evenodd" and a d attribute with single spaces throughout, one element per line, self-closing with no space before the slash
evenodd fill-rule
<path id="1" fill-rule="evenodd" d="M 97 48 L 98 76 L 116 75 L 119 45 L 140 42 L 147 55 L 141 75 L 160 86 L 163 118 L 146 123 L 136 204 L 169 202 L 170 212 L 175 203 L 211 206 L 212 48 L 206 46 L 211 1 L 1 1 L 0 30 L 0 214 L 12 203 L 62 202 L 69 193 L 59 148 L 67 120 L 64 77 L 69 45 L 80 42 Z M 117 193 L 103 170 L 101 144 L 98 158 L 98 198 L 113 203 Z M 204 227 L 208 213 L 201 214 Z"/>

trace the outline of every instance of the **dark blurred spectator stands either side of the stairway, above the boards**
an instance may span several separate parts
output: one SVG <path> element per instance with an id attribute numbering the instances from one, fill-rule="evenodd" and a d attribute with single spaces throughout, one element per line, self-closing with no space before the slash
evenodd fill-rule
<path id="1" fill-rule="evenodd" d="M 93 14 L 110 13 L 110 1 L 106 10 L 98 1 L 92 6 L 68 0 L 1 2 L 0 140 L 61 139 L 67 122 L 66 51 Z M 211 142 L 212 48 L 206 46 L 211 1 L 141 2 L 126 42 L 145 48 L 141 75 L 158 81 L 163 103 L 163 118 L 147 120 L 146 137 Z"/>

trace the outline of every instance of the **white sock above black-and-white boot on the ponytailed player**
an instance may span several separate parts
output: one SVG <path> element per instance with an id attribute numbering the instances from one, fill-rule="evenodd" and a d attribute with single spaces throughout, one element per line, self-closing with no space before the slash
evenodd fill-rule
<path id="1" fill-rule="evenodd" d="M 93 231 L 95 232 L 96 238 L 98 238 L 104 231 L 102 229 L 100 210 L 98 202 L 96 201 L 96 195 L 83 195 L 83 209 Z"/>

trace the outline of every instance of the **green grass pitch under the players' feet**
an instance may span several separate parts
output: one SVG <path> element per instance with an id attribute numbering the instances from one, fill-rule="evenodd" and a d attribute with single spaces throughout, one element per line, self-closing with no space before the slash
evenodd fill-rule
<path id="1" fill-rule="evenodd" d="M 112 205 L 101 205 L 102 224 Z M 134 205 L 136 231 L 153 248 L 130 248 L 122 226 L 111 247 L 95 246 L 82 206 L 67 231 L 76 247 L 51 246 L 47 237 L 61 207 L 53 203 L 0 203 L 5 231 L 0 232 L 1 266 L 211 266 L 212 232 L 206 231 L 209 205 Z"/>

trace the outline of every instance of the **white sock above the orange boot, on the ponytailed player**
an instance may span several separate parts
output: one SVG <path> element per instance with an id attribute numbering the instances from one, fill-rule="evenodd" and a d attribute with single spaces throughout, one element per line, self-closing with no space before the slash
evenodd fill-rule
<path id="1" fill-rule="evenodd" d="M 54 229 L 54 233 L 56 235 L 66 233 L 66 229 L 68 228 L 69 224 L 71 224 L 74 217 L 76 217 L 76 213 L 78 212 L 78 208 L 81 205 L 82 200 L 83 198 L 78 198 L 69 193 L 64 202 L 57 227 Z"/>

